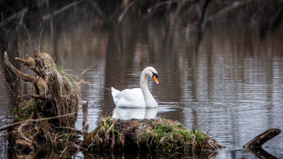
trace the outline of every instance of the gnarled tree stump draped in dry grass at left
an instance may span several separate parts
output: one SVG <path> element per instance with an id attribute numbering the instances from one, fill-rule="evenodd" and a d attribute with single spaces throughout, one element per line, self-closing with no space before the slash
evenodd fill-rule
<path id="1" fill-rule="evenodd" d="M 10 124 L 30 121 L 7 129 L 9 143 L 32 151 L 42 143 L 55 146 L 58 131 L 56 127 L 75 125 L 80 98 L 79 86 L 58 69 L 46 53 L 38 53 L 35 58 L 27 56 L 27 59 L 16 59 L 32 69 L 35 76 L 24 74 L 15 68 L 9 61 L 7 52 L 4 52 L 6 66 L 18 77 L 22 77 L 22 80 L 32 82 L 35 93 L 29 101 L 22 103 L 21 109 L 18 110 L 22 114 Z M 40 120 L 42 118 L 49 120 Z"/>

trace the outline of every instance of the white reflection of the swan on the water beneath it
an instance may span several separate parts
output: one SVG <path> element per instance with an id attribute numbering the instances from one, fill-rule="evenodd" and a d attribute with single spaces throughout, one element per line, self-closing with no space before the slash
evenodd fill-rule
<path id="1" fill-rule="evenodd" d="M 157 114 L 157 108 L 124 108 L 115 107 L 112 118 L 121 120 L 153 119 Z"/>

